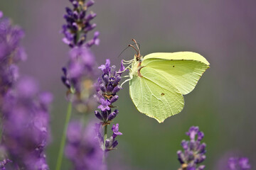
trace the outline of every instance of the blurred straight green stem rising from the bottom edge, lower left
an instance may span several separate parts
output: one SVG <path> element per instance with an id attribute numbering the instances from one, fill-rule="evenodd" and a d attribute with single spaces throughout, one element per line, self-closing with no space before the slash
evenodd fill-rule
<path id="1" fill-rule="evenodd" d="M 70 117 L 71 117 L 71 112 L 72 112 L 72 103 L 69 102 L 65 125 L 64 125 L 64 130 L 63 130 L 63 135 L 62 135 L 61 141 L 60 141 L 60 150 L 58 153 L 58 159 L 57 159 L 57 164 L 56 164 L 55 170 L 60 170 L 60 168 L 61 168 L 61 163 L 62 163 L 62 159 L 63 159 L 63 151 L 64 151 L 64 147 L 65 147 L 65 140 L 66 140 L 66 135 L 67 135 L 67 130 L 68 130 L 68 123 L 69 123 Z"/>

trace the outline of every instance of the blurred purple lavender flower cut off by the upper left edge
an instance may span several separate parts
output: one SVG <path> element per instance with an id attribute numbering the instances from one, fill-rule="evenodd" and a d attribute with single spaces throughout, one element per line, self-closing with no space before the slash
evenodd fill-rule
<path id="1" fill-rule="evenodd" d="M 0 11 L 1 12 L 1 11 Z M 1 18 L 0 13 L 0 104 L 14 81 L 18 79 L 16 64 L 26 60 L 26 53 L 20 45 L 24 33 L 18 26 L 11 26 L 8 18 Z"/>

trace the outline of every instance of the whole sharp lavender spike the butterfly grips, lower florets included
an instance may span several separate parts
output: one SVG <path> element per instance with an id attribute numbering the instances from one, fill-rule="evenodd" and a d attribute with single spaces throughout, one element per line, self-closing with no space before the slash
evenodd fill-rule
<path id="1" fill-rule="evenodd" d="M 116 125 L 112 125 L 113 135 L 110 138 L 107 138 L 106 130 L 107 125 L 110 125 L 112 120 L 119 113 L 117 109 L 112 112 L 111 108 L 114 108 L 112 103 L 118 99 L 117 92 L 121 89 L 119 81 L 121 80 L 121 74 L 124 71 L 124 65 L 121 62 L 121 68 L 119 69 L 119 72 L 116 72 L 115 66 L 110 67 L 110 60 L 106 60 L 106 63 L 102 64 L 99 69 L 102 70 L 102 76 L 99 77 L 95 84 L 97 91 L 95 98 L 97 98 L 97 101 L 100 104 L 98 106 L 98 108 L 100 108 L 100 112 L 95 111 L 95 116 L 102 122 L 97 125 L 97 136 L 102 149 L 105 150 L 105 152 L 108 152 L 117 147 L 118 142 L 115 140 L 117 135 L 122 135 L 122 133 L 119 132 L 118 123 Z M 105 141 L 102 137 L 101 125 L 102 127 L 105 126 Z"/>

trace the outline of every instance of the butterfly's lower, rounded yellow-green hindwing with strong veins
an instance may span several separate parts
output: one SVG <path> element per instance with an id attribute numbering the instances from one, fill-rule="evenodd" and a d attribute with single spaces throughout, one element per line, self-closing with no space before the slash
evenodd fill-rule
<path id="1" fill-rule="evenodd" d="M 166 77 L 151 67 L 142 68 L 140 73 L 142 77 L 134 76 L 129 81 L 129 93 L 139 112 L 159 123 L 181 112 L 183 96 Z"/>

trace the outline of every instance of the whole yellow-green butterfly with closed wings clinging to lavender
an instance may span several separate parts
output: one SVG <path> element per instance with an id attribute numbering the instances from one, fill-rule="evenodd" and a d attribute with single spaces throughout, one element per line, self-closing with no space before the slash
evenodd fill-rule
<path id="1" fill-rule="evenodd" d="M 129 64 L 129 95 L 139 112 L 163 123 L 182 111 L 183 95 L 193 91 L 210 63 L 196 52 L 155 52 L 142 57 L 132 40 L 137 48 L 129 46 L 137 54 L 133 60 L 123 60 Z"/>

